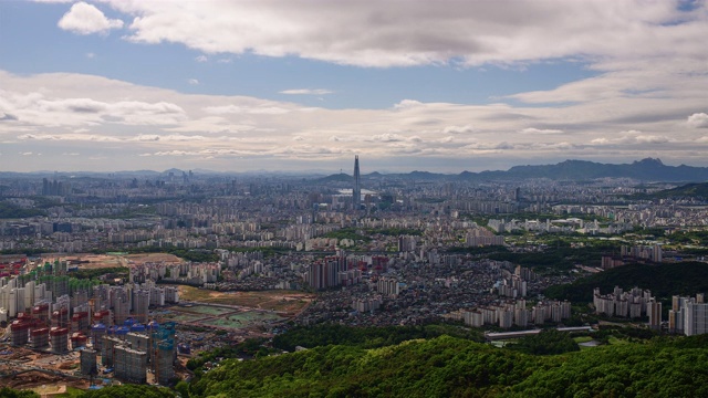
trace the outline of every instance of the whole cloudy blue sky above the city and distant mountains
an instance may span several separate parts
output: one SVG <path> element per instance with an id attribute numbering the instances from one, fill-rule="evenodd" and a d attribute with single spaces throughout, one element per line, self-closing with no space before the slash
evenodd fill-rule
<path id="1" fill-rule="evenodd" d="M 0 171 L 708 166 L 708 0 L 0 1 Z"/>

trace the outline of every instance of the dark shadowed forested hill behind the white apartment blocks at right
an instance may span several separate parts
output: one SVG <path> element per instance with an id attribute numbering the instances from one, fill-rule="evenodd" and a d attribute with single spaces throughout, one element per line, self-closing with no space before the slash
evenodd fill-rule
<path id="1" fill-rule="evenodd" d="M 617 266 L 571 284 L 555 285 L 543 293 L 551 298 L 573 303 L 592 302 L 593 289 L 610 293 L 615 286 L 648 289 L 657 297 L 695 295 L 708 292 L 708 264 L 702 262 L 663 263 L 658 265 L 631 264 Z"/>

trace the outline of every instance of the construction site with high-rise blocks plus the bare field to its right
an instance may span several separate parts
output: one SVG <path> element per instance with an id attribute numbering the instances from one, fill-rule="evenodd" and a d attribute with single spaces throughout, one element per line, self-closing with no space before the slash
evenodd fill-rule
<path id="1" fill-rule="evenodd" d="M 215 302 L 181 303 L 181 285 L 76 280 L 60 260 L 17 271 L 0 277 L 0 385 L 15 388 L 168 386 L 190 376 L 192 350 L 267 336 L 304 303 L 291 293 L 198 289 L 190 292 Z"/>

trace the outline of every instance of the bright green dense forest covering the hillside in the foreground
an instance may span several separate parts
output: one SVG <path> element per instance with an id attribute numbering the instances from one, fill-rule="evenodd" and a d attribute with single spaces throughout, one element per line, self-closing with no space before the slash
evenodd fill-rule
<path id="1" fill-rule="evenodd" d="M 577 350 L 568 335 L 542 332 L 504 348 L 448 335 L 378 348 L 323 345 L 226 359 L 173 390 L 125 385 L 81 397 L 707 397 L 707 343 L 655 336 Z M 35 396 L 18 394 L 0 390 Z"/>

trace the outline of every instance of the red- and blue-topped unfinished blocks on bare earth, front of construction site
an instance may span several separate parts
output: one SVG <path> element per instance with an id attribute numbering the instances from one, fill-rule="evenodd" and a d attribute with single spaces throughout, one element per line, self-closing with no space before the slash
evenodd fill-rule
<path id="1" fill-rule="evenodd" d="M 96 329 L 101 332 L 92 333 L 86 342 L 69 338 L 64 328 L 8 327 L 6 335 L 12 339 L 0 344 L 0 385 L 88 388 L 118 381 L 167 386 L 187 376 L 180 366 L 184 360 L 177 360 L 174 323 L 142 325 L 131 318 L 122 326 L 94 325 L 92 331 Z"/>

